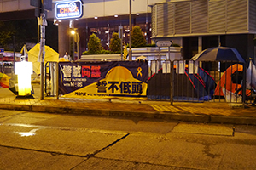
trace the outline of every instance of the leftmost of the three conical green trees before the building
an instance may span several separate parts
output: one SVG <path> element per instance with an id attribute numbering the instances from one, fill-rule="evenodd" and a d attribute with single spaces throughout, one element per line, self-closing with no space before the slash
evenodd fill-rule
<path id="1" fill-rule="evenodd" d="M 90 54 L 100 54 L 103 49 L 100 38 L 93 33 L 89 37 L 88 51 Z"/>

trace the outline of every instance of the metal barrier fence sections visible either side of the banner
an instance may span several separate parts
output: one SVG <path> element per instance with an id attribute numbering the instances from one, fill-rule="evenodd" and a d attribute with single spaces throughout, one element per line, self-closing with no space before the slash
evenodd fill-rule
<path id="1" fill-rule="evenodd" d="M 251 65 L 251 69 L 250 66 Z M 149 100 L 248 103 L 256 101 L 253 62 L 149 60 Z M 45 94 L 56 96 L 58 65 L 45 65 Z"/>

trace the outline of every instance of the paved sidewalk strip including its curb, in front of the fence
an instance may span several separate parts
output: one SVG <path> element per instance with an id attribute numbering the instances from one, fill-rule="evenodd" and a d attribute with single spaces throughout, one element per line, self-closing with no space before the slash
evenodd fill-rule
<path id="1" fill-rule="evenodd" d="M 38 89 L 37 89 L 38 90 Z M 179 120 L 186 122 L 214 122 L 256 125 L 256 107 L 230 107 L 227 103 L 122 101 L 112 99 L 56 99 L 44 97 L 40 100 L 35 90 L 34 99 L 15 99 L 9 89 L 0 88 L 0 109 L 36 111 L 61 114 L 93 116 L 134 116 Z"/>

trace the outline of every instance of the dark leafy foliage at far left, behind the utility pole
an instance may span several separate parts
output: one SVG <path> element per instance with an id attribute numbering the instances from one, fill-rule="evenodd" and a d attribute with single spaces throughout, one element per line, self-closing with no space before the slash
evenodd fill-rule
<path id="1" fill-rule="evenodd" d="M 45 26 L 45 44 L 58 51 L 58 36 L 53 36 L 58 35 L 58 27 L 49 22 L 48 26 Z M 26 42 L 38 43 L 40 41 L 38 35 L 40 29 L 36 18 L 0 21 L 0 30 L 0 47 L 6 51 L 13 50 L 14 37 L 15 51 L 20 51 Z"/>

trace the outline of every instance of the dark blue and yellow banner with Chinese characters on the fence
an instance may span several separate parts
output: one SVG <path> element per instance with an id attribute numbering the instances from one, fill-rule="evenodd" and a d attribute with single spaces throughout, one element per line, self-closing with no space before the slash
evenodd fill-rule
<path id="1" fill-rule="evenodd" d="M 147 99 L 147 62 L 60 62 L 59 69 L 62 97 Z"/>

